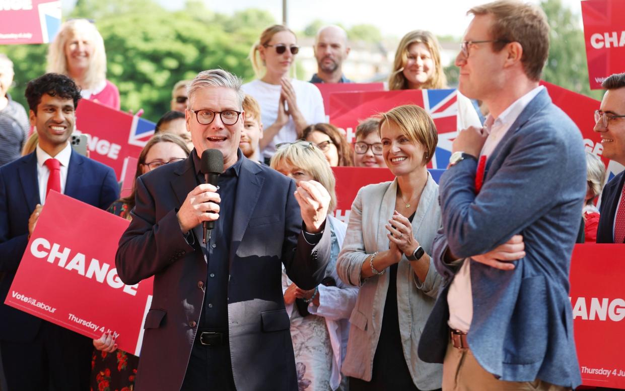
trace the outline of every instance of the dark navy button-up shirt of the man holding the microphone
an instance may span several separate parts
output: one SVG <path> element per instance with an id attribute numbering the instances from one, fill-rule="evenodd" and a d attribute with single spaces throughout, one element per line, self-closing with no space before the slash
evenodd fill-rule
<path id="1" fill-rule="evenodd" d="M 197 184 L 204 183 L 204 174 L 199 170 L 200 160 L 195 151 L 193 164 L 195 166 Z M 221 197 L 219 203 L 219 218 L 215 221 L 215 228 L 210 231 L 210 240 L 207 233 L 206 245 L 202 244 L 202 225 L 193 229 L 196 241 L 202 248 L 204 259 L 207 261 L 206 283 L 204 289 L 204 305 L 199 327 L 212 330 L 227 331 L 228 327 L 228 259 L 232 240 L 232 221 L 234 220 L 234 200 L 239 181 L 239 170 L 243 154 L 237 151 L 237 161 L 219 176 L 217 193 Z"/>

